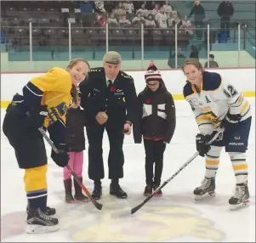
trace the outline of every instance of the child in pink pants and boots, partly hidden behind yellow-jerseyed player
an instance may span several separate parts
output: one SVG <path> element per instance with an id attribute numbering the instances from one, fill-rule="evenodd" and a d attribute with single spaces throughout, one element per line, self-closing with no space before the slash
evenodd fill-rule
<path id="1" fill-rule="evenodd" d="M 68 134 L 66 136 L 66 144 L 70 148 L 70 161 L 69 166 L 77 174 L 77 178 L 82 182 L 82 164 L 83 164 L 83 150 L 85 150 L 85 137 L 84 127 L 86 125 L 86 118 L 84 110 L 80 108 L 80 98 L 78 99 L 78 105 L 72 103 L 67 115 L 66 115 L 66 127 Z M 74 181 L 75 195 L 72 195 L 72 179 L 71 172 L 64 167 L 63 178 L 65 186 L 65 201 L 71 203 L 74 198 L 77 201 L 87 201 L 88 197 L 82 194 L 82 189 Z"/>

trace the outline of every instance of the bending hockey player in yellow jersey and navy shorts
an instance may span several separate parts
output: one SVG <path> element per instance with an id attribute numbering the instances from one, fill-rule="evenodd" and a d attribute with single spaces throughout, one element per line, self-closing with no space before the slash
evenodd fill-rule
<path id="1" fill-rule="evenodd" d="M 19 167 L 25 169 L 27 233 L 59 229 L 58 219 L 52 217 L 55 209 L 47 206 L 47 155 L 38 128 L 48 129 L 50 138 L 61 151 L 56 154 L 52 150 L 51 157 L 58 166 L 65 167 L 69 161 L 65 113 L 71 103 L 71 91 L 76 96 L 77 86 L 88 71 L 89 65 L 84 59 L 72 60 L 66 70 L 54 67 L 27 82 L 6 110 L 3 133 L 14 148 Z"/>

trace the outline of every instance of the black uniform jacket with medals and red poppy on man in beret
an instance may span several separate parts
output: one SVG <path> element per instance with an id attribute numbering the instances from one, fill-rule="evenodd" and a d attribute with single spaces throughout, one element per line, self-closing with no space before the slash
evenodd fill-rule
<path id="1" fill-rule="evenodd" d="M 99 111 L 108 115 L 106 126 L 122 129 L 126 121 L 133 122 L 137 94 L 134 79 L 119 71 L 113 85 L 108 88 L 104 68 L 91 69 L 80 86 L 81 106 L 86 110 L 90 124 L 95 123 Z"/>

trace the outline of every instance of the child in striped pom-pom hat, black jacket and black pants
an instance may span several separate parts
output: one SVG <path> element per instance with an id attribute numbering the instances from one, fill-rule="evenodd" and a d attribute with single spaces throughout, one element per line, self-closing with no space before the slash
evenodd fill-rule
<path id="1" fill-rule="evenodd" d="M 151 195 L 161 184 L 163 153 L 176 127 L 174 99 L 168 93 L 160 71 L 151 63 L 145 73 L 145 89 L 138 96 L 138 113 L 134 119 L 134 142 L 145 146 L 145 192 Z M 153 167 L 155 164 L 155 173 Z M 161 196 L 161 189 L 155 196 Z"/>

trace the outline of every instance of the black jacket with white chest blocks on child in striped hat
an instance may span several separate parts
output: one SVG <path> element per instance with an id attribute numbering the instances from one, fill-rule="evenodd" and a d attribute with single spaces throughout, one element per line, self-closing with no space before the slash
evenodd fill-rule
<path id="1" fill-rule="evenodd" d="M 141 135 L 147 138 L 163 138 L 169 143 L 176 127 L 174 99 L 164 82 L 152 92 L 145 88 L 138 96 L 138 110 L 134 122 L 134 142 L 141 143 Z M 164 118 L 163 118 L 163 117 Z"/>

